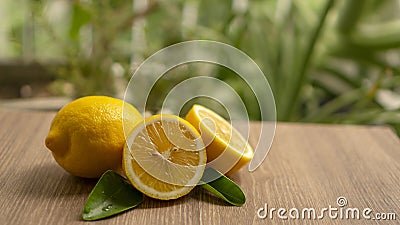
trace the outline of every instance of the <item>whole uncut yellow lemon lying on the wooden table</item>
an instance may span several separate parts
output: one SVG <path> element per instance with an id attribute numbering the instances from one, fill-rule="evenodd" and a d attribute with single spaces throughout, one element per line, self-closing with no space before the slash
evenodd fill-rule
<path id="1" fill-rule="evenodd" d="M 45 144 L 67 172 L 97 178 L 109 169 L 121 170 L 123 129 L 129 133 L 142 120 L 138 110 L 122 100 L 87 96 L 56 114 Z"/>

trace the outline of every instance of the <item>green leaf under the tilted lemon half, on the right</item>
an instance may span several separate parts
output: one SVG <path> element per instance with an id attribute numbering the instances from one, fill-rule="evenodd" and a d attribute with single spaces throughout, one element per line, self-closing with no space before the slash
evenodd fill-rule
<path id="1" fill-rule="evenodd" d="M 211 182 L 208 182 L 212 180 Z M 246 196 L 240 187 L 231 179 L 211 167 L 206 168 L 201 178 L 201 187 L 225 200 L 231 205 L 241 206 L 246 202 Z"/>

